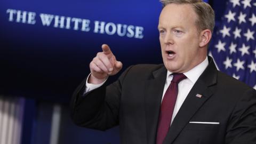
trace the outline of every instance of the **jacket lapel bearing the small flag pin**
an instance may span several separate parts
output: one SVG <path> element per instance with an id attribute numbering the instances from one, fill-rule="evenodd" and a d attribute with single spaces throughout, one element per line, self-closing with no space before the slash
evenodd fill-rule
<path id="1" fill-rule="evenodd" d="M 211 85 L 217 83 L 217 69 L 213 60 L 209 57 L 209 65 L 204 73 L 198 78 L 197 82 L 189 92 L 183 102 L 178 114 L 175 116 L 169 132 L 166 135 L 164 144 L 172 143 L 178 137 L 182 129 L 189 123 L 189 120 L 196 111 L 209 99 L 213 93 Z M 196 97 L 196 94 L 202 94 L 202 98 Z"/>

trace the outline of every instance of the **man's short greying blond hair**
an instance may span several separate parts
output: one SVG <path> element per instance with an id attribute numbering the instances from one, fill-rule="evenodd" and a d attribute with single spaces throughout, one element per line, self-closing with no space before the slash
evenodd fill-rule
<path id="1" fill-rule="evenodd" d="M 212 7 L 202 0 L 160 0 L 163 8 L 168 4 L 191 4 L 197 14 L 196 26 L 199 31 L 210 29 L 213 33 L 215 15 Z"/>

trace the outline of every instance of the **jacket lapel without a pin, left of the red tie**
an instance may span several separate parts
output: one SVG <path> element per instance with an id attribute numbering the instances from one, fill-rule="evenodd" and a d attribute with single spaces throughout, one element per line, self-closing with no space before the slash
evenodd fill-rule
<path id="1" fill-rule="evenodd" d="M 155 143 L 158 115 L 161 107 L 167 70 L 162 67 L 153 72 L 153 77 L 145 84 L 145 109 L 148 143 Z"/>

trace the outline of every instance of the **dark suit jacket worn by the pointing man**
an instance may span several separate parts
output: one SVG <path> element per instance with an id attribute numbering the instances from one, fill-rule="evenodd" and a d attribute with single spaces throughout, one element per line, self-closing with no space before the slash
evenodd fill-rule
<path id="1" fill-rule="evenodd" d="M 121 143 L 153 144 L 166 72 L 164 65 L 131 66 L 115 83 L 85 97 L 84 81 L 71 100 L 71 117 L 91 129 L 119 125 Z M 218 71 L 209 57 L 209 66 L 187 95 L 163 143 L 255 144 L 256 91 Z"/>

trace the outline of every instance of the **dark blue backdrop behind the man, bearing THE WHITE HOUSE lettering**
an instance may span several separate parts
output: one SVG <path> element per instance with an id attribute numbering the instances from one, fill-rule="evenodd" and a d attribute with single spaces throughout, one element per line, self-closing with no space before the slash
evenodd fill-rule
<path id="1" fill-rule="evenodd" d="M 218 25 L 226 1 L 209 3 Z M 2 0 L 0 94 L 68 103 L 103 43 L 123 62 L 123 70 L 138 63 L 161 63 L 157 30 L 161 9 L 158 1 L 146 0 Z M 23 143 L 49 140 L 49 107 L 26 101 Z M 118 128 L 107 132 L 78 128 L 68 117 L 65 107 L 60 143 L 118 143 Z"/>

